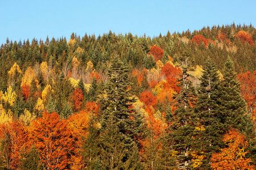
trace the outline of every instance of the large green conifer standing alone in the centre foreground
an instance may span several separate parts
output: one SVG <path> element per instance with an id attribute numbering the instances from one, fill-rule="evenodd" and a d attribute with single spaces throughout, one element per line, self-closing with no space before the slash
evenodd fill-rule
<path id="1" fill-rule="evenodd" d="M 141 116 L 129 108 L 135 99 L 129 90 L 127 67 L 117 57 L 108 71 L 109 80 L 101 103 L 101 155 L 104 169 L 139 169 L 140 158 L 134 137 L 142 125 Z"/>

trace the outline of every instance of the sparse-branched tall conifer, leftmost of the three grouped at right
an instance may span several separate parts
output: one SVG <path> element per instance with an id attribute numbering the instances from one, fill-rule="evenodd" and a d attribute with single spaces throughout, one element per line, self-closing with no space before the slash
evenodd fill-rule
<path id="1" fill-rule="evenodd" d="M 171 140 L 174 142 L 174 148 L 179 154 L 177 166 L 178 168 L 187 168 L 188 165 L 191 164 L 191 160 L 188 158 L 188 151 L 193 145 L 191 135 L 195 128 L 193 128 L 192 119 L 193 105 L 196 100 L 195 88 L 189 80 L 190 75 L 188 71 L 194 70 L 189 53 L 184 53 L 180 57 L 180 66 L 183 72 L 179 79 L 181 90 L 179 94 L 175 96 L 174 107 L 176 109 L 171 119 L 173 124 L 170 130 Z"/>

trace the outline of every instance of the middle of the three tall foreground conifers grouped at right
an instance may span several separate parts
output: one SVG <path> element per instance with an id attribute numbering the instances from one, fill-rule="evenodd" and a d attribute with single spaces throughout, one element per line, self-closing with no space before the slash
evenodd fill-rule
<path id="1" fill-rule="evenodd" d="M 215 64 L 208 58 L 203 66 L 203 75 L 198 88 L 198 100 L 195 107 L 194 150 L 206 156 L 200 168 L 209 169 L 209 158 L 214 151 L 223 146 L 222 135 L 225 125 L 219 110 L 220 76 Z"/>

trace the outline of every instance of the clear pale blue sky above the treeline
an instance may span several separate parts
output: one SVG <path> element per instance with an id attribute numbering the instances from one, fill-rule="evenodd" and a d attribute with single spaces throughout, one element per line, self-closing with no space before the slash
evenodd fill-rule
<path id="1" fill-rule="evenodd" d="M 0 45 L 9 40 L 70 38 L 72 32 L 159 36 L 209 25 L 250 23 L 256 27 L 256 1 L 0 0 Z"/>

